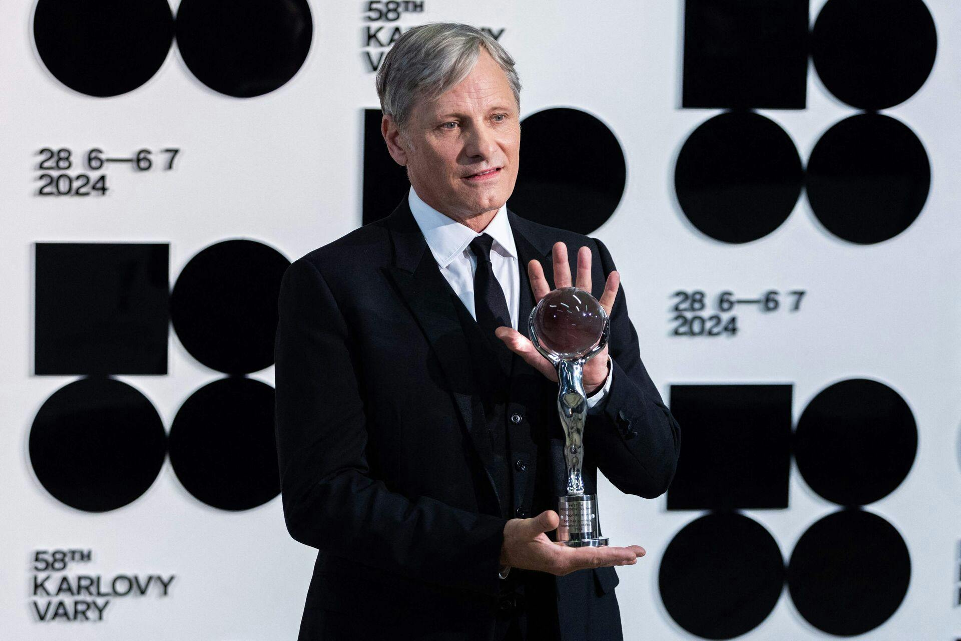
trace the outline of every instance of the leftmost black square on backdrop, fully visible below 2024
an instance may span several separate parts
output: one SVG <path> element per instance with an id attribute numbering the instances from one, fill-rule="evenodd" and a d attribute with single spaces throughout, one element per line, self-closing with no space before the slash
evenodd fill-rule
<path id="1" fill-rule="evenodd" d="M 35 247 L 35 374 L 167 373 L 167 243 Z"/>

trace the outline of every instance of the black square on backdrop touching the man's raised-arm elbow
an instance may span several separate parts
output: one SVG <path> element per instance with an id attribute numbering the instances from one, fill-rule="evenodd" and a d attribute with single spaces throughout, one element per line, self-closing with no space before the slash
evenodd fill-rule
<path id="1" fill-rule="evenodd" d="M 668 509 L 787 507 L 792 385 L 671 385 L 684 431 Z"/>

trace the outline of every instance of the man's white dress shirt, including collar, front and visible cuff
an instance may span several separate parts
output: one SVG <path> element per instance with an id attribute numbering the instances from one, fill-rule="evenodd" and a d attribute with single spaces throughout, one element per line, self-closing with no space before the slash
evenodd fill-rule
<path id="1" fill-rule="evenodd" d="M 490 262 L 494 269 L 494 277 L 504 290 L 507 311 L 510 313 L 510 326 L 516 330 L 521 298 L 521 275 L 517 247 L 514 245 L 514 234 L 510 229 L 510 221 L 507 219 L 506 204 L 502 205 L 500 210 L 497 210 L 483 232 L 475 232 L 466 225 L 433 209 L 420 199 L 413 187 L 410 187 L 410 192 L 407 195 L 407 204 L 410 206 L 410 212 L 414 215 L 414 220 L 417 221 L 421 233 L 427 240 L 427 246 L 431 249 L 431 254 L 437 261 L 440 273 L 451 284 L 457 298 L 471 312 L 474 320 L 477 320 L 477 312 L 474 308 L 474 270 L 477 268 L 477 257 L 471 251 L 470 243 L 471 240 L 481 234 L 489 234 L 494 239 L 490 248 Z M 611 379 L 614 378 L 613 371 L 614 368 L 608 362 L 607 379 L 600 389 L 587 397 L 588 408 L 598 406 L 606 396 L 610 390 Z M 600 410 L 600 407 L 598 407 L 598 410 Z"/>

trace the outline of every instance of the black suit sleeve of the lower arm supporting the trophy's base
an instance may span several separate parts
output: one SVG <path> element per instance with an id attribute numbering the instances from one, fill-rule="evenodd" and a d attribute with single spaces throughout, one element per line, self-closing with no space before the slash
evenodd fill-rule
<path id="1" fill-rule="evenodd" d="M 497 594 L 505 519 L 410 500 L 370 476 L 352 335 L 307 259 L 284 273 L 278 309 L 275 427 L 290 535 L 407 578 Z"/>

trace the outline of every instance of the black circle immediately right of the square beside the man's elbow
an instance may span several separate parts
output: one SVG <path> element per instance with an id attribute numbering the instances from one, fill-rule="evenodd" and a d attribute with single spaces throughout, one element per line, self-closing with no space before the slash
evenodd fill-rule
<path id="1" fill-rule="evenodd" d="M 849 379 L 826 387 L 801 413 L 794 453 L 804 481 L 838 505 L 868 505 L 907 477 L 918 426 L 898 392 Z"/>

